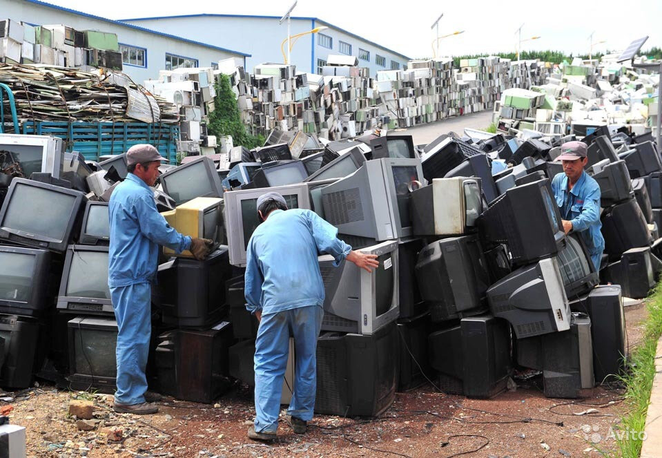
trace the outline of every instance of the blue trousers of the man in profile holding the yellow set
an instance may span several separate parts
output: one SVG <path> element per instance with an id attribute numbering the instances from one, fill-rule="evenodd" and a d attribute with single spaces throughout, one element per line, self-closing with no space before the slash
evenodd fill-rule
<path id="1" fill-rule="evenodd" d="M 149 355 L 151 322 L 151 287 L 149 283 L 110 287 L 117 321 L 117 391 L 115 402 L 145 402 L 145 368 Z"/>

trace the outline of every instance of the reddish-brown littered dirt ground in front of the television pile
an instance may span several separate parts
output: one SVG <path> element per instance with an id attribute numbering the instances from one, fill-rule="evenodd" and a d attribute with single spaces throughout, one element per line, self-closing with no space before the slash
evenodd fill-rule
<path id="1" fill-rule="evenodd" d="M 626 308 L 630 350 L 641 340 L 643 304 Z M 215 405 L 165 398 L 160 412 L 139 417 L 110 410 L 112 397 L 50 387 L 6 394 L 10 421 L 26 426 L 30 457 L 598 457 L 616 447 L 610 428 L 623 414 L 619 390 L 596 388 L 586 399 L 547 399 L 535 381 L 475 400 L 436 392 L 431 385 L 398 393 L 377 419 L 316 416 L 306 435 L 285 423 L 270 445 L 246 438 L 255 410 L 237 385 Z M 84 396 L 95 419 L 79 426 L 68 401 Z M 120 437 L 121 436 L 121 437 Z M 611 437 L 610 437 L 611 436 Z M 119 439 L 119 440 L 116 440 Z"/>

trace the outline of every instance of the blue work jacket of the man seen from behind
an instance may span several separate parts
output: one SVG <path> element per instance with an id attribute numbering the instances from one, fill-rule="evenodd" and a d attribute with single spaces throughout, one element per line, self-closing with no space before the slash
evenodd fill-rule
<path id="1" fill-rule="evenodd" d="M 324 305 L 324 283 L 318 254 L 326 252 L 335 265 L 351 247 L 339 240 L 338 229 L 310 210 L 274 210 L 255 229 L 246 250 L 246 309 L 273 314 Z"/>

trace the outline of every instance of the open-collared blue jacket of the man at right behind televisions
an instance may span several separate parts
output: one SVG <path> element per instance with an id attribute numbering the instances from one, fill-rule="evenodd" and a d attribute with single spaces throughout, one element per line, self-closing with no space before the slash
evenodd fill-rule
<path id="1" fill-rule="evenodd" d="M 565 173 L 557 173 L 552 180 L 552 191 L 561 210 L 561 218 L 572 222 L 572 230 L 581 236 L 598 270 L 605 249 L 605 239 L 600 231 L 600 187 L 586 172 L 582 172 L 570 191 L 567 184 Z"/>

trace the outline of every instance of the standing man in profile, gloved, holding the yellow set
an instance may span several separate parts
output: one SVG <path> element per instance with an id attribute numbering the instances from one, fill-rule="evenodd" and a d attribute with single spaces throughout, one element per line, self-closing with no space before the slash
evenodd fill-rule
<path id="1" fill-rule="evenodd" d="M 150 283 L 157 273 L 159 245 L 177 253 L 188 249 L 197 259 L 204 258 L 211 246 L 211 240 L 175 231 L 157 211 L 150 186 L 163 160 L 152 145 L 132 146 L 126 153 L 129 173 L 108 204 L 108 287 L 118 329 L 115 412 L 158 412 L 150 402 L 158 401 L 160 395 L 147 392 L 145 368 L 151 333 Z"/>

